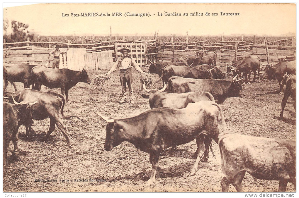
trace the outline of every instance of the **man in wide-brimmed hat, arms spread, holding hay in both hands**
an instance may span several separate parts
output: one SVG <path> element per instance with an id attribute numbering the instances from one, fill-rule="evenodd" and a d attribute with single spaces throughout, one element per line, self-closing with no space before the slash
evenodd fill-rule
<path id="1" fill-rule="evenodd" d="M 109 75 L 112 72 L 115 72 L 118 68 L 120 68 L 119 77 L 120 77 L 122 96 L 119 103 L 125 103 L 127 101 L 126 85 L 128 85 L 129 92 L 130 92 L 128 101 L 131 102 L 132 104 L 135 103 L 134 102 L 135 97 L 133 94 L 133 86 L 132 86 L 133 78 L 132 78 L 131 68 L 134 67 L 134 69 L 136 69 L 138 72 L 145 73 L 140 69 L 136 61 L 132 57 L 128 56 L 128 53 L 130 51 L 131 50 L 126 47 L 120 49 L 120 53 L 122 53 L 123 56 L 118 58 L 116 63 L 110 69 L 110 71 L 106 73 L 106 75 Z"/>

